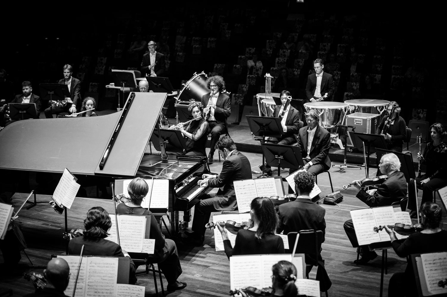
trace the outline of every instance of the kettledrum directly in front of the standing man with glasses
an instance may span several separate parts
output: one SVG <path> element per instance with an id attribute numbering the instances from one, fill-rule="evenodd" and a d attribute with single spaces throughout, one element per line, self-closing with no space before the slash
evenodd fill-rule
<path id="1" fill-rule="evenodd" d="M 345 121 L 348 106 L 346 103 L 332 101 L 304 103 L 306 111 L 316 109 L 320 113 L 320 126 L 325 129 L 332 129 L 342 124 Z"/>

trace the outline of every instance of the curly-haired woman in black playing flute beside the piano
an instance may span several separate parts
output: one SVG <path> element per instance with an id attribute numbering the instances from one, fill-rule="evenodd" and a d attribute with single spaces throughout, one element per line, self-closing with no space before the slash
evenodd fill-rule
<path id="1" fill-rule="evenodd" d="M 193 101 L 188 106 L 188 111 L 196 118 L 184 126 L 182 123 L 172 125 L 170 129 L 180 130 L 186 138 L 186 154 L 190 156 L 206 157 L 205 148 L 207 146 L 207 129 L 208 122 L 202 117 L 203 105 L 201 102 Z"/>

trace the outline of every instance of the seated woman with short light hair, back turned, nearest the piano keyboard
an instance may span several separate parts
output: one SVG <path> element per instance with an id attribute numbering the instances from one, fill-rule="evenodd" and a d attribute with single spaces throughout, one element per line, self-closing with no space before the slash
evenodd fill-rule
<path id="1" fill-rule="evenodd" d="M 141 207 L 143 198 L 149 192 L 148 184 L 141 177 L 136 177 L 127 187 L 127 192 L 129 193 L 131 201 L 125 204 L 119 204 L 116 208 L 116 213 L 151 216 L 151 233 L 149 238 L 155 239 L 155 250 L 154 254 L 150 255 L 148 260 L 150 263 L 158 263 L 158 267 L 168 281 L 168 291 L 185 288 L 186 283 L 177 280 L 182 272 L 178 259 L 177 246 L 172 239 L 164 238 L 154 214 L 150 210 Z"/>

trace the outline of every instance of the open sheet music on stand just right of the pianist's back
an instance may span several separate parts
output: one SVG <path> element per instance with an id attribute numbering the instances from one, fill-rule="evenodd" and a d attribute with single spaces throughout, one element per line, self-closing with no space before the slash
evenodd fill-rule
<path id="1" fill-rule="evenodd" d="M 250 180 L 235 180 L 237 208 L 240 213 L 250 211 L 250 204 L 256 197 L 284 197 L 283 181 L 281 178 L 258 178 Z"/>

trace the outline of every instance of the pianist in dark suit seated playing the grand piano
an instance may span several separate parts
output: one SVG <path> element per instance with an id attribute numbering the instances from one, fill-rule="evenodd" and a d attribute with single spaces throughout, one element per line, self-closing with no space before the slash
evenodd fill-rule
<path id="1" fill-rule="evenodd" d="M 195 205 L 192 230 L 194 233 L 185 232 L 188 235 L 186 243 L 203 245 L 205 225 L 209 222 L 212 212 L 219 210 L 236 210 L 237 201 L 233 181 L 252 178 L 249 159 L 236 150 L 233 140 L 224 136 L 216 143 L 215 148 L 222 155 L 222 171 L 218 176 L 204 174 L 204 180 L 200 186 L 219 188 L 216 194 L 202 194 L 201 201 Z"/>

